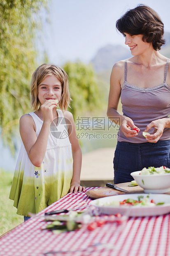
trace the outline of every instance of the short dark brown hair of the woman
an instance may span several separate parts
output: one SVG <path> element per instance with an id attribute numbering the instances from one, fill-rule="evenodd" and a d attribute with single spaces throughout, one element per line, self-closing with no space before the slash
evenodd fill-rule
<path id="1" fill-rule="evenodd" d="M 116 21 L 116 29 L 119 32 L 131 36 L 143 35 L 142 40 L 152 43 L 156 51 L 161 50 L 161 46 L 165 44 L 163 27 L 163 22 L 157 12 L 146 5 L 138 5 L 128 10 Z"/>

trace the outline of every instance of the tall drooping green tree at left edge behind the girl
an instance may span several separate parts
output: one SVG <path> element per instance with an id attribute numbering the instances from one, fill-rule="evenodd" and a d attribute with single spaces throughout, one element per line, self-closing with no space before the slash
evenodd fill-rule
<path id="1" fill-rule="evenodd" d="M 49 0 L 0 0 L 0 127 L 14 152 L 14 124 L 30 109 L 30 79 L 37 67 L 36 32 Z"/>

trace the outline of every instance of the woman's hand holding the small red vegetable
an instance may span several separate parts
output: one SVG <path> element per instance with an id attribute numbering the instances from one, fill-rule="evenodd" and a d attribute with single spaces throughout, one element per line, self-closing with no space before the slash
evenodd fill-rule
<path id="1" fill-rule="evenodd" d="M 123 120 L 121 121 L 121 131 L 126 137 L 135 137 L 137 136 L 137 131 L 133 130 L 134 128 L 137 128 L 137 126 L 134 125 L 132 119 L 130 119 L 127 116 L 121 117 Z M 138 128 L 138 132 L 140 129 Z"/>

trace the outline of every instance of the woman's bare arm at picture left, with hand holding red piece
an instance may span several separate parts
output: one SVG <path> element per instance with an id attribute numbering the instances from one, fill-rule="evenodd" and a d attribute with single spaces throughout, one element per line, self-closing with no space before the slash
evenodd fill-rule
<path id="1" fill-rule="evenodd" d="M 117 112 L 121 95 L 121 84 L 124 81 L 124 65 L 124 61 L 120 61 L 113 66 L 110 76 L 107 116 L 113 123 L 121 126 L 121 131 L 126 137 L 134 137 L 137 135 L 137 132 L 131 129 L 137 128 L 137 126 L 135 126 L 132 119 Z"/>

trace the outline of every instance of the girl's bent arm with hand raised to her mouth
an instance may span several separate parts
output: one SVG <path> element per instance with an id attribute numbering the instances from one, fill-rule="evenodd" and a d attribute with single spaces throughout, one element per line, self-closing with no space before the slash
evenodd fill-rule
<path id="1" fill-rule="evenodd" d="M 36 127 L 32 116 L 29 114 L 21 116 L 20 135 L 28 157 L 34 166 L 40 167 L 47 149 L 50 124 L 53 121 L 53 109 L 57 104 L 53 100 L 48 100 L 41 106 L 44 121 L 40 134 L 36 135 Z"/>

